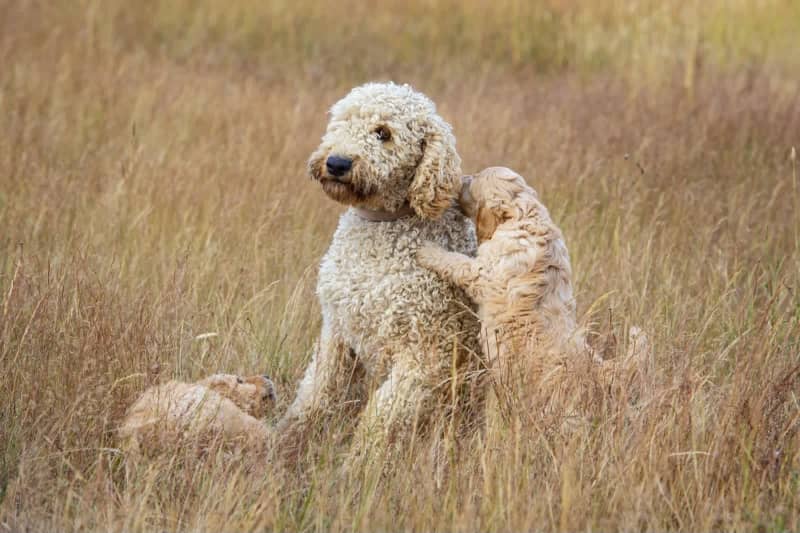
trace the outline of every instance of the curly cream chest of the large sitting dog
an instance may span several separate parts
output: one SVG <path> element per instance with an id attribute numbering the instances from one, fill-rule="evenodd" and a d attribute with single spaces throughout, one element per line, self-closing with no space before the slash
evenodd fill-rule
<path id="1" fill-rule="evenodd" d="M 463 295 L 417 264 L 425 241 L 474 252 L 471 228 L 461 220 L 342 216 L 320 266 L 317 294 L 325 320 L 362 359 L 418 345 L 431 328 L 447 328 L 446 317 L 463 310 Z"/>

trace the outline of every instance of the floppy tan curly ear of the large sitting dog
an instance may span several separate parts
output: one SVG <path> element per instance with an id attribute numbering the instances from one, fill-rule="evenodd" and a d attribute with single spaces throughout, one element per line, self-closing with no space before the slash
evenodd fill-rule
<path id="1" fill-rule="evenodd" d="M 408 202 L 420 217 L 435 219 L 461 191 L 461 158 L 447 122 L 434 116 L 424 129 L 424 152 L 408 189 Z"/>

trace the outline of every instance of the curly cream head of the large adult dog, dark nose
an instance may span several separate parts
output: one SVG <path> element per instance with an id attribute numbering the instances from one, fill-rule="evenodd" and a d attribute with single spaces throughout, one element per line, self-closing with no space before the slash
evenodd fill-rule
<path id="1" fill-rule="evenodd" d="M 461 158 L 450 125 L 408 85 L 368 83 L 331 108 L 308 162 L 325 193 L 347 205 L 439 217 L 458 195 Z"/>

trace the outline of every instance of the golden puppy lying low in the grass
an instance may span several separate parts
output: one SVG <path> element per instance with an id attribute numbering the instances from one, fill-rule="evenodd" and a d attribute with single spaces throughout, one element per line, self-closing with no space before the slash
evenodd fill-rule
<path id="1" fill-rule="evenodd" d="M 213 445 L 264 450 L 268 429 L 260 419 L 275 404 L 267 376 L 215 374 L 197 383 L 170 381 L 147 389 L 119 429 L 122 447 L 154 455 L 176 446 Z"/>

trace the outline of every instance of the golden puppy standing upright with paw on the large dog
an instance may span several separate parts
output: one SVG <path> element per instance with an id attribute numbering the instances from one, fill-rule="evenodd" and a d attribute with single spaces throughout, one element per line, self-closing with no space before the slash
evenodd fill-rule
<path id="1" fill-rule="evenodd" d="M 512 367 L 525 362 L 525 381 L 541 383 L 582 361 L 610 383 L 617 365 L 595 355 L 578 328 L 567 246 L 536 191 L 516 172 L 490 167 L 463 178 L 459 204 L 475 222 L 477 257 L 427 245 L 417 258 L 478 304 L 481 344 L 495 376 L 513 376 Z M 642 353 L 638 328 L 631 340 L 638 346 L 629 356 Z"/>

